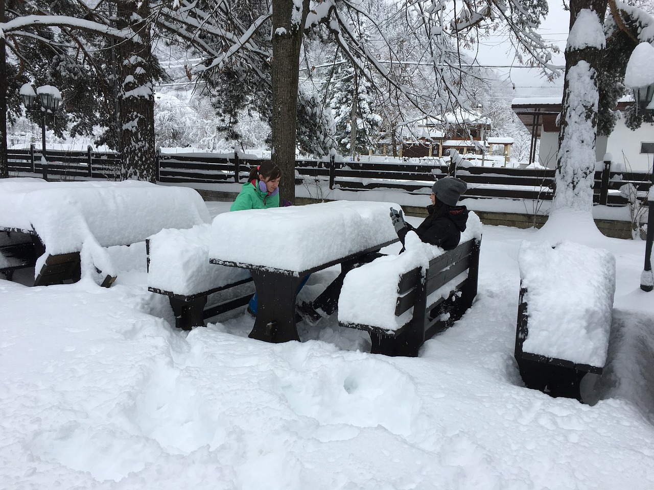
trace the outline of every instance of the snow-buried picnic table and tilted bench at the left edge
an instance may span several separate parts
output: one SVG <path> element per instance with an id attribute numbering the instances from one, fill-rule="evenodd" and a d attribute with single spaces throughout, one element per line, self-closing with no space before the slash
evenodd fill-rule
<path id="1" fill-rule="evenodd" d="M 207 221 L 207 206 L 190 188 L 135 180 L 0 179 L 0 233 L 32 244 L 35 259 L 29 265 L 35 267 L 35 286 L 78 280 L 82 265 L 100 271 L 103 285 L 110 286 L 116 270 L 105 247 L 143 242 L 163 228 Z"/>

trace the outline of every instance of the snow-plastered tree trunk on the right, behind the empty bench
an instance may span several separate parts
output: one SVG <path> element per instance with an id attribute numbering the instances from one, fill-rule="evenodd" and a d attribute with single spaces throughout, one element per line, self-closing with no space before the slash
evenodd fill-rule
<path id="1" fill-rule="evenodd" d="M 605 45 L 606 0 L 570 1 L 570 35 L 560 116 L 556 192 L 551 216 L 574 211 L 592 223 L 598 73 Z"/>

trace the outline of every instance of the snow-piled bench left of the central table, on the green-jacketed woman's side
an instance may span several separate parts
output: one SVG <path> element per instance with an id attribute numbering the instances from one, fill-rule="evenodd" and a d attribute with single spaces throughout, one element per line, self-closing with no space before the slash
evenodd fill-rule
<path id="1" fill-rule="evenodd" d="M 169 297 L 175 325 L 184 330 L 203 326 L 205 318 L 244 306 L 252 297 L 253 291 L 237 287 L 252 281 L 247 269 L 209 263 L 210 235 L 211 224 L 205 223 L 165 229 L 146 240 L 148 291 Z M 207 297 L 218 291 L 228 299 L 205 308 Z"/>

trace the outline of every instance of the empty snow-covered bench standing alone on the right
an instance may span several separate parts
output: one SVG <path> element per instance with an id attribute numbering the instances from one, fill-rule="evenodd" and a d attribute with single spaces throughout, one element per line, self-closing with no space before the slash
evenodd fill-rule
<path id="1" fill-rule="evenodd" d="M 582 378 L 597 378 L 606 363 L 615 257 L 573 242 L 525 242 L 518 260 L 515 359 L 523 381 L 553 397 L 583 401 Z"/>

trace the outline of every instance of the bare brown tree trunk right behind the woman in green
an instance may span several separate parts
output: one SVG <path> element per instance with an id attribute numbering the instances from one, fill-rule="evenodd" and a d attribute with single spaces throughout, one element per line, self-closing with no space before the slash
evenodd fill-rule
<path id="1" fill-rule="evenodd" d="M 272 162 L 282 171 L 280 197 L 295 201 L 295 149 L 300 46 L 309 0 L 298 12 L 293 0 L 273 0 Z"/>

